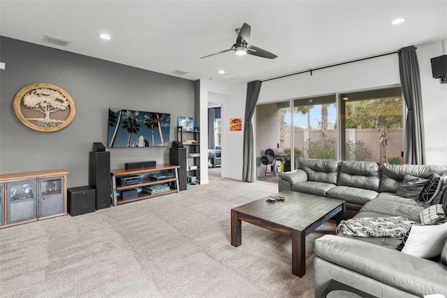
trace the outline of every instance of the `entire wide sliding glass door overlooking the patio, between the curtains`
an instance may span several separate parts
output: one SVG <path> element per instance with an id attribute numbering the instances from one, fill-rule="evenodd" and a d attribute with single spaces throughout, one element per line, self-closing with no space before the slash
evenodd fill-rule
<path id="1" fill-rule="evenodd" d="M 276 183 L 300 157 L 400 163 L 402 111 L 400 87 L 258 104 L 258 180 Z M 284 158 L 265 158 L 273 148 Z"/>

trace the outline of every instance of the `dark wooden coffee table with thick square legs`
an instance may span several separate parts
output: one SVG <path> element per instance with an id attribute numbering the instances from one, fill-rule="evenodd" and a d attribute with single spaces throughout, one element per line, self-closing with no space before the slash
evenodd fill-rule
<path id="1" fill-rule="evenodd" d="M 303 194 L 279 192 L 284 201 L 258 199 L 231 209 L 231 245 L 242 244 L 241 220 L 292 237 L 292 274 L 306 274 L 305 237 L 330 218 L 337 216 L 337 225 L 344 218 L 345 202 Z"/>

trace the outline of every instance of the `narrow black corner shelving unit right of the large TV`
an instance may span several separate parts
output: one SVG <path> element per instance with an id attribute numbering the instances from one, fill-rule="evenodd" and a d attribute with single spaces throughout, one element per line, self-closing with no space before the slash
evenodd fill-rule
<path id="1" fill-rule="evenodd" d="M 186 179 L 189 184 L 200 183 L 200 128 L 194 130 L 182 130 L 177 127 L 177 141 L 186 148 L 186 164 L 179 164 L 186 169 Z M 196 177 L 196 181 L 188 180 L 189 177 Z"/>

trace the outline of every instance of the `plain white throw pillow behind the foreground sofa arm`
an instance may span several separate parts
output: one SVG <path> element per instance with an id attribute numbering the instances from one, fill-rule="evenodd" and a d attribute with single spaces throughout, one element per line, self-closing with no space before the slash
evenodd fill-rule
<path id="1" fill-rule="evenodd" d="M 447 222 L 442 225 L 413 225 L 396 250 L 430 259 L 441 255 L 447 239 Z"/>

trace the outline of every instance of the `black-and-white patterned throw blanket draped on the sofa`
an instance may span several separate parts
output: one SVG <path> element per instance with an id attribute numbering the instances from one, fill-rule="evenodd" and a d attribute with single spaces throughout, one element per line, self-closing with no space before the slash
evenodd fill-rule
<path id="1" fill-rule="evenodd" d="M 415 225 L 408 218 L 402 216 L 390 218 L 351 218 L 342 220 L 337 227 L 337 234 L 342 232 L 346 236 L 358 237 L 394 237 L 405 236 L 411 225 Z"/>

